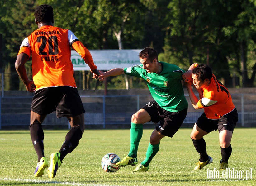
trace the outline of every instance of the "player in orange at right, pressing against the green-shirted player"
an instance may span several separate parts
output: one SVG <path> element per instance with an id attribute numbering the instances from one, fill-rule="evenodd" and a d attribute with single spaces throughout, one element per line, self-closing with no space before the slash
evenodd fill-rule
<path id="1" fill-rule="evenodd" d="M 197 119 L 190 137 L 200 155 L 199 162 L 194 170 L 203 169 L 207 164 L 212 163 L 212 157 L 206 152 L 206 142 L 203 136 L 211 131 L 219 131 L 220 170 L 228 166 L 228 160 L 232 152 L 231 138 L 238 121 L 238 114 L 232 102 L 228 89 L 217 80 L 212 74 L 211 68 L 206 64 L 192 64 L 188 72 L 183 74 L 183 79 L 190 86 L 187 91 L 191 103 L 195 109 L 204 109 L 204 113 Z M 191 85 L 197 89 L 200 100 L 192 91 Z"/>

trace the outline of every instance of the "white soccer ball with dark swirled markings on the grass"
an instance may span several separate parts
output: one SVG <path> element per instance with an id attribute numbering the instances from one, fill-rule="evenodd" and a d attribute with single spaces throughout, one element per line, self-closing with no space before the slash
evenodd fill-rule
<path id="1" fill-rule="evenodd" d="M 108 153 L 102 157 L 101 166 L 106 172 L 116 172 L 120 167 L 116 166 L 116 163 L 120 162 L 120 157 L 114 153 Z"/>

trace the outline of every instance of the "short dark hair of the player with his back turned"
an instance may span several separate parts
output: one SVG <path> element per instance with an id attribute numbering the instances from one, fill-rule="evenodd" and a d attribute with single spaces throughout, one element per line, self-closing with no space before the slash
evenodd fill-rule
<path id="1" fill-rule="evenodd" d="M 50 5 L 40 5 L 35 10 L 35 18 L 38 23 L 53 21 L 53 8 Z"/>

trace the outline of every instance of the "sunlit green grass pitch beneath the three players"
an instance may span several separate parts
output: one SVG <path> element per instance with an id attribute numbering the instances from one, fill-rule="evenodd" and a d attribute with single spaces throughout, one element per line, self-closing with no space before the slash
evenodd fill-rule
<path id="1" fill-rule="evenodd" d="M 135 166 L 121 167 L 115 173 L 104 172 L 101 159 L 116 153 L 121 159 L 130 148 L 130 130 L 85 130 L 78 147 L 68 154 L 53 179 L 45 175 L 35 178 L 37 156 L 29 131 L 0 131 L 0 185 L 77 185 L 77 186 L 164 186 L 164 185 L 256 185 L 256 128 L 236 128 L 232 138 L 232 170 L 246 176 L 252 168 L 252 178 L 209 179 L 209 170 L 219 168 L 221 159 L 218 132 L 205 136 L 207 152 L 213 163 L 204 170 L 193 171 L 199 156 L 190 139 L 192 129 L 180 129 L 173 138 L 165 137 L 149 166 L 149 171 L 131 173 Z M 145 129 L 138 150 L 138 162 L 145 158 L 153 129 Z M 58 152 L 67 130 L 45 130 L 45 156 Z M 207 171 L 208 170 L 208 171 Z M 215 172 L 217 173 L 217 171 Z M 220 177 L 222 171 L 219 172 Z M 247 172 L 248 173 L 248 172 Z"/>

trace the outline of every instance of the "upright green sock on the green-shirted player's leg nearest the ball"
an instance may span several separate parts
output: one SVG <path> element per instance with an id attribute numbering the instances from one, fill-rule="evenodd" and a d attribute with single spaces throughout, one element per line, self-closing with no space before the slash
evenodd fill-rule
<path id="1" fill-rule="evenodd" d="M 143 133 L 143 124 L 131 123 L 130 129 L 130 151 L 128 156 L 136 158 L 140 139 Z"/>

